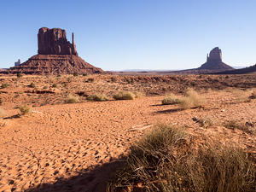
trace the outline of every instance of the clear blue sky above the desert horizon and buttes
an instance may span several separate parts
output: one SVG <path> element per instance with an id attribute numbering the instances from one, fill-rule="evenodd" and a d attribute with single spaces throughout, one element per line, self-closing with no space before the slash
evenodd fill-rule
<path id="1" fill-rule="evenodd" d="M 85 61 L 104 70 L 200 67 L 218 46 L 223 61 L 256 63 L 255 0 L 1 0 L 0 67 L 38 51 L 42 26 L 75 34 Z"/>

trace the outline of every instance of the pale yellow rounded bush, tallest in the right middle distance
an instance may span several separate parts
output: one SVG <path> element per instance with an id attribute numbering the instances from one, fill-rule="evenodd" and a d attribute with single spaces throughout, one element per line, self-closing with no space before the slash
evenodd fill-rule
<path id="1" fill-rule="evenodd" d="M 199 108 L 205 104 L 205 99 L 201 97 L 195 90 L 186 90 L 185 96 L 180 101 L 180 106 L 183 109 Z"/>

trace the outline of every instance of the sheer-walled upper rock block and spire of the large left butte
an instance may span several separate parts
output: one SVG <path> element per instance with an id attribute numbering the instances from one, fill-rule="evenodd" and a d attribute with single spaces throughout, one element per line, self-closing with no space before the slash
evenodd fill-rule
<path id="1" fill-rule="evenodd" d="M 72 44 L 67 41 L 66 31 L 60 28 L 42 27 L 38 31 L 39 55 L 78 55 L 72 34 Z"/>

